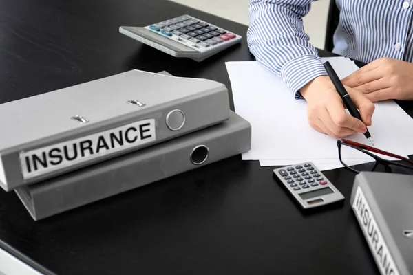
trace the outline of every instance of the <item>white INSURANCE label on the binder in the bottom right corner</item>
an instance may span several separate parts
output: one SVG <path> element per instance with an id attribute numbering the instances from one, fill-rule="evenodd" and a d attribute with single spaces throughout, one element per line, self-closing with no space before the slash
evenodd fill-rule
<path id="1" fill-rule="evenodd" d="M 394 264 L 392 255 L 390 255 L 383 235 L 374 220 L 373 213 L 360 187 L 357 188 L 356 199 L 354 199 L 352 208 L 354 213 L 356 213 L 357 220 L 363 230 L 363 234 L 374 256 L 374 260 L 379 267 L 380 273 L 383 275 L 399 275 L 400 273 Z"/>

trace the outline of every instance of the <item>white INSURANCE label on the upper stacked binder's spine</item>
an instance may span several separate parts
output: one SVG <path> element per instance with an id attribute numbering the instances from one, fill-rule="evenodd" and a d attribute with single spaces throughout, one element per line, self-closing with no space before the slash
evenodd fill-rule
<path id="1" fill-rule="evenodd" d="M 87 162 L 156 140 L 155 120 L 141 120 L 93 135 L 20 153 L 24 179 Z"/>

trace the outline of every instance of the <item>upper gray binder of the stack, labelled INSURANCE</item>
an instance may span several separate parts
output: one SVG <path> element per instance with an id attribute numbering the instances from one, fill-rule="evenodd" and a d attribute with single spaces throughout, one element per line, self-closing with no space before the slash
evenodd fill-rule
<path id="1" fill-rule="evenodd" d="M 0 186 L 10 191 L 228 120 L 229 95 L 213 80 L 132 70 L 0 104 L 3 116 Z"/>

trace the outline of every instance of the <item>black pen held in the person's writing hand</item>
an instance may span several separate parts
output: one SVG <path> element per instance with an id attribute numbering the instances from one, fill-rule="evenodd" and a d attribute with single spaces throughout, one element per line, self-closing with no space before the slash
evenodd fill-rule
<path id="1" fill-rule="evenodd" d="M 350 114 L 354 118 L 358 118 L 362 122 L 363 120 L 361 119 L 359 110 L 357 110 L 356 105 L 354 105 L 354 102 L 351 100 L 350 96 L 348 96 L 346 88 L 344 88 L 343 83 L 341 83 L 341 80 L 340 80 L 339 76 L 337 76 L 335 70 L 332 69 L 331 64 L 328 61 L 326 61 L 324 63 L 324 67 L 326 68 L 327 74 L 328 74 L 328 76 L 330 76 L 332 84 L 334 84 L 335 88 L 339 92 L 339 95 L 341 96 L 341 99 L 343 100 L 343 102 L 346 105 L 346 107 L 347 107 L 348 111 L 350 112 Z M 366 129 L 367 129 L 367 127 L 366 127 Z M 374 146 L 372 137 L 371 137 L 368 130 L 366 131 L 366 133 L 364 133 L 364 135 L 366 136 L 368 141 Z"/>

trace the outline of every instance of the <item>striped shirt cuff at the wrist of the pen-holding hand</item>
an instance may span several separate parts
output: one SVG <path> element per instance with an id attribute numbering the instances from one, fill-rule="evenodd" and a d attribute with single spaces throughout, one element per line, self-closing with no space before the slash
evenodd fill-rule
<path id="1" fill-rule="evenodd" d="M 299 89 L 317 76 L 326 76 L 321 58 L 317 55 L 299 56 L 288 61 L 281 69 L 281 80 L 293 93 L 296 99 L 303 99 Z"/>

